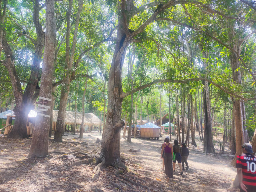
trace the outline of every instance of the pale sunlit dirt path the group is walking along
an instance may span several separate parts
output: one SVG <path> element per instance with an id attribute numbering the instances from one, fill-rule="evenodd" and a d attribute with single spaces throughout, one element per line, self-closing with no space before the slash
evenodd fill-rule
<path id="1" fill-rule="evenodd" d="M 160 147 L 164 137 L 157 140 L 133 139 L 132 144 L 128 144 L 121 139 L 121 152 L 127 153 L 130 148 L 139 148 L 141 152 L 136 153 L 136 158 L 140 161 L 141 167 L 151 171 L 151 177 L 159 178 L 166 183 L 165 174 L 161 170 L 162 160 L 160 160 Z M 199 139 L 199 138 L 198 138 Z M 169 188 L 172 191 L 202 191 L 220 192 L 236 191 L 231 190 L 230 185 L 236 176 L 236 169 L 230 166 L 231 158 L 217 155 L 206 155 L 202 143 L 197 140 L 198 147 L 194 150 L 190 148 L 188 159 L 189 170 L 184 171 L 181 176 L 179 167 L 176 164 L 174 179 L 169 181 Z M 217 148 L 216 148 L 217 150 Z M 228 148 L 226 149 L 228 150 Z M 128 152 L 129 153 L 129 152 Z M 168 186 L 168 185 L 167 185 Z"/>

